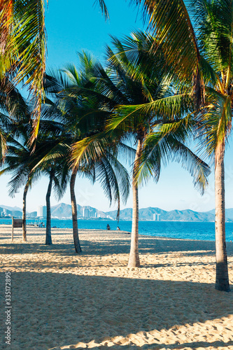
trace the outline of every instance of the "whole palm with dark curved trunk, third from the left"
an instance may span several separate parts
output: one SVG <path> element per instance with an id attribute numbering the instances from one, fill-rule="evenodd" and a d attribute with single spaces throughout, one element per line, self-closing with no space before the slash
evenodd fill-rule
<path id="1" fill-rule="evenodd" d="M 90 89 L 88 75 L 92 64 L 85 55 L 80 55 L 80 61 L 83 63 L 83 71 L 78 72 L 75 66 L 69 65 L 64 71 L 50 71 L 50 76 L 46 76 L 46 92 L 48 96 L 52 97 L 53 102 L 48 100 L 50 107 L 44 111 L 46 116 L 57 118 L 64 125 L 63 144 L 59 145 L 59 151 L 52 150 L 52 153 L 47 155 L 47 159 L 54 157 L 53 153 L 55 152 L 57 159 L 66 158 L 66 171 L 71 169 L 70 191 L 73 241 L 76 253 L 82 251 L 78 237 L 77 204 L 74 190 L 77 174 L 88 177 L 93 183 L 99 181 L 110 203 L 112 200 L 118 202 L 118 213 L 120 211 L 120 194 L 122 194 L 123 200 L 126 200 L 129 194 L 127 171 L 116 159 L 114 150 L 109 147 L 109 144 L 104 150 L 99 149 L 99 152 L 92 150 L 80 160 L 78 165 L 71 166 L 70 164 L 70 152 L 65 149 L 64 144 L 66 147 L 71 147 L 73 142 L 92 133 L 94 122 L 97 119 L 93 100 L 82 97 L 82 94 Z M 92 120 L 86 120 L 86 114 L 92 115 Z M 98 125 L 99 128 L 103 129 L 104 124 L 101 120 L 99 120 Z"/>

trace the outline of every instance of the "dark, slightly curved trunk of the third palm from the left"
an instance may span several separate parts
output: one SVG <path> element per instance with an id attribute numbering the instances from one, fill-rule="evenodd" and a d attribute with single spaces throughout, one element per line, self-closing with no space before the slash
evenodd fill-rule
<path id="1" fill-rule="evenodd" d="M 80 241 L 78 237 L 78 213 L 77 213 L 76 195 L 74 191 L 74 186 L 76 183 L 76 175 L 77 175 L 77 170 L 73 169 L 73 172 L 71 174 L 71 183 L 70 183 L 72 221 L 73 221 L 73 243 L 74 243 L 74 248 L 76 249 L 76 253 L 81 253 L 82 249 L 81 249 Z"/>

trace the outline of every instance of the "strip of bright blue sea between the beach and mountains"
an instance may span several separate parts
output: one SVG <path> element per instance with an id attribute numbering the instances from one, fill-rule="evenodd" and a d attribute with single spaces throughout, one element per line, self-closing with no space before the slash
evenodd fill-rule
<path id="1" fill-rule="evenodd" d="M 33 219 L 27 223 L 38 223 Z M 11 219 L 1 219 L 0 224 L 11 224 Z M 45 223 L 45 220 L 43 220 Z M 111 220 L 78 220 L 78 228 L 89 230 L 106 230 L 109 224 L 111 230 L 131 232 L 132 221 L 111 221 Z M 72 228 L 71 219 L 52 219 L 51 226 L 57 228 Z M 178 221 L 139 221 L 139 234 L 158 237 L 198 239 L 203 241 L 215 240 L 214 223 L 178 222 Z M 226 223 L 226 241 L 233 241 L 233 223 Z"/>

